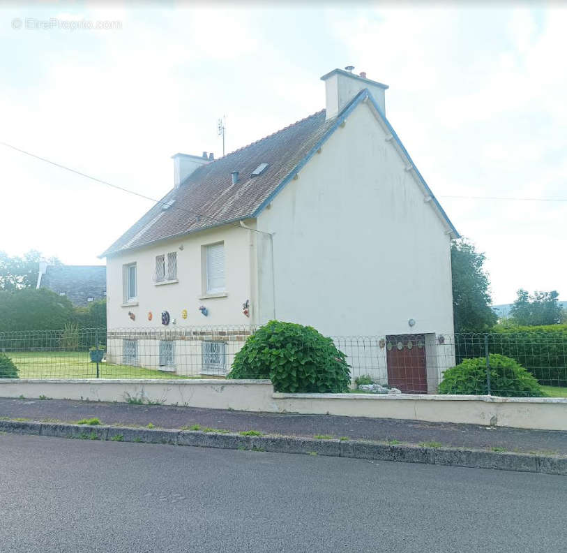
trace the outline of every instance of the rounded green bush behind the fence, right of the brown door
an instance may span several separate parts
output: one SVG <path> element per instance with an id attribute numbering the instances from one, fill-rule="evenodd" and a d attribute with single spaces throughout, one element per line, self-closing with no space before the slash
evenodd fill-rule
<path id="1" fill-rule="evenodd" d="M 541 397 L 545 395 L 536 378 L 521 364 L 497 353 L 488 356 L 490 390 L 492 395 L 504 397 Z M 439 394 L 486 395 L 486 358 L 465 359 L 444 373 Z"/>

